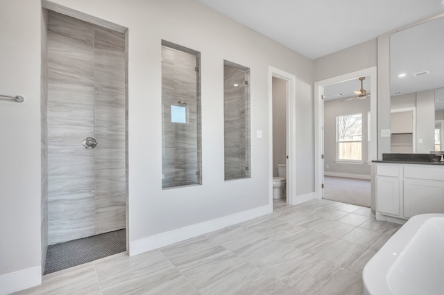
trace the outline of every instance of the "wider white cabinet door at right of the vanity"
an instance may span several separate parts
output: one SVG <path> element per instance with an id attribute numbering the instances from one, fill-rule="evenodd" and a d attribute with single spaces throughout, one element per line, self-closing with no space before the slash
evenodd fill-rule
<path id="1" fill-rule="evenodd" d="M 404 179 L 404 217 L 444 213 L 444 181 Z"/>

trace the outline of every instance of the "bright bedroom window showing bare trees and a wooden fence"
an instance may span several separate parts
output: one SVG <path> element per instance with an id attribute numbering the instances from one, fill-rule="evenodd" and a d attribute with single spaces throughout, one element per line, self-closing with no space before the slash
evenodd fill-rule
<path id="1" fill-rule="evenodd" d="M 362 114 L 336 117 L 337 154 L 339 161 L 362 160 Z"/>

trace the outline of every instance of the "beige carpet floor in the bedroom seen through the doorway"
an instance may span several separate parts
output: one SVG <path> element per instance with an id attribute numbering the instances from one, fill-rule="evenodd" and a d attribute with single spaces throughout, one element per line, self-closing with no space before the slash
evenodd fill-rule
<path id="1" fill-rule="evenodd" d="M 357 206 L 371 206 L 371 181 L 344 177 L 324 177 L 324 199 Z"/>

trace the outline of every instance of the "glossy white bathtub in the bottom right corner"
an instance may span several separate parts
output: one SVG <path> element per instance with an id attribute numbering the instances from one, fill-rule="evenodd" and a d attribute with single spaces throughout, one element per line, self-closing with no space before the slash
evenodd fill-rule
<path id="1" fill-rule="evenodd" d="M 444 214 L 411 217 L 368 261 L 364 294 L 444 294 Z"/>

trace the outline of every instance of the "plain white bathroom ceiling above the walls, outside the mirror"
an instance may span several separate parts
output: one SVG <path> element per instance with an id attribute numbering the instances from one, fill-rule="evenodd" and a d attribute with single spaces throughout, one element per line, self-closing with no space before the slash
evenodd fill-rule
<path id="1" fill-rule="evenodd" d="M 444 12 L 444 0 L 196 0 L 315 60 Z"/>

